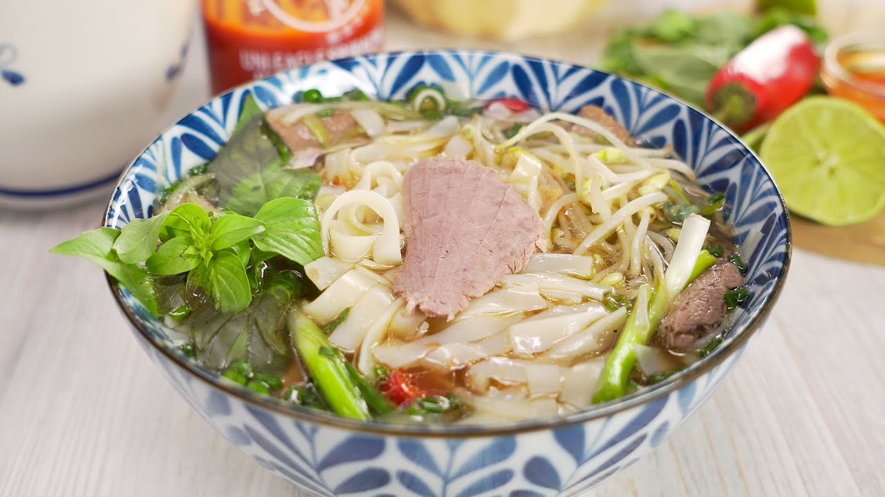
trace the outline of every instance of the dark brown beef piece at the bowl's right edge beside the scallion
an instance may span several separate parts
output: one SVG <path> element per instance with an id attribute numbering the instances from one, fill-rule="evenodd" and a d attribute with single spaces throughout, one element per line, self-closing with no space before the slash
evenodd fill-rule
<path id="1" fill-rule="evenodd" d="M 741 271 L 729 262 L 718 262 L 701 273 L 658 326 L 666 347 L 688 350 L 695 340 L 716 331 L 727 311 L 724 294 L 741 285 Z"/>

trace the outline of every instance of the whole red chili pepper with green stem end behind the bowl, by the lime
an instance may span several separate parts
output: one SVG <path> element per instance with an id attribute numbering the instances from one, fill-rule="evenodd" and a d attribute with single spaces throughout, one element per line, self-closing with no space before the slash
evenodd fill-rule
<path id="1" fill-rule="evenodd" d="M 713 76 L 706 107 L 737 133 L 776 118 L 812 88 L 820 57 L 808 35 L 787 25 L 735 55 Z"/>

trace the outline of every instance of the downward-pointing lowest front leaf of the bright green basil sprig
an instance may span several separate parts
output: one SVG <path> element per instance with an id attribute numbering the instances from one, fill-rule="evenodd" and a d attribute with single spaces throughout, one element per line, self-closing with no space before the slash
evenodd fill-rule
<path id="1" fill-rule="evenodd" d="M 246 268 L 230 250 L 216 252 L 206 264 L 205 285 L 215 307 L 222 312 L 238 312 L 252 301 Z"/>

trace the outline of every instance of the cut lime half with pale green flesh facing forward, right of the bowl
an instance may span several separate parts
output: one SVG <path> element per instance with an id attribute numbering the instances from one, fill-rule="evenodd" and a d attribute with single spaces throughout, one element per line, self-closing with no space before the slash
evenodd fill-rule
<path id="1" fill-rule="evenodd" d="M 843 226 L 885 208 L 885 126 L 855 103 L 804 99 L 774 120 L 760 155 L 800 216 Z"/>

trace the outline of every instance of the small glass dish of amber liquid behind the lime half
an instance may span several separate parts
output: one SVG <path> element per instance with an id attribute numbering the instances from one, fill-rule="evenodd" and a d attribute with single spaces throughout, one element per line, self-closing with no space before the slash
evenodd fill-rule
<path id="1" fill-rule="evenodd" d="M 885 122 L 885 42 L 841 47 L 820 77 L 830 95 L 859 103 Z"/>

